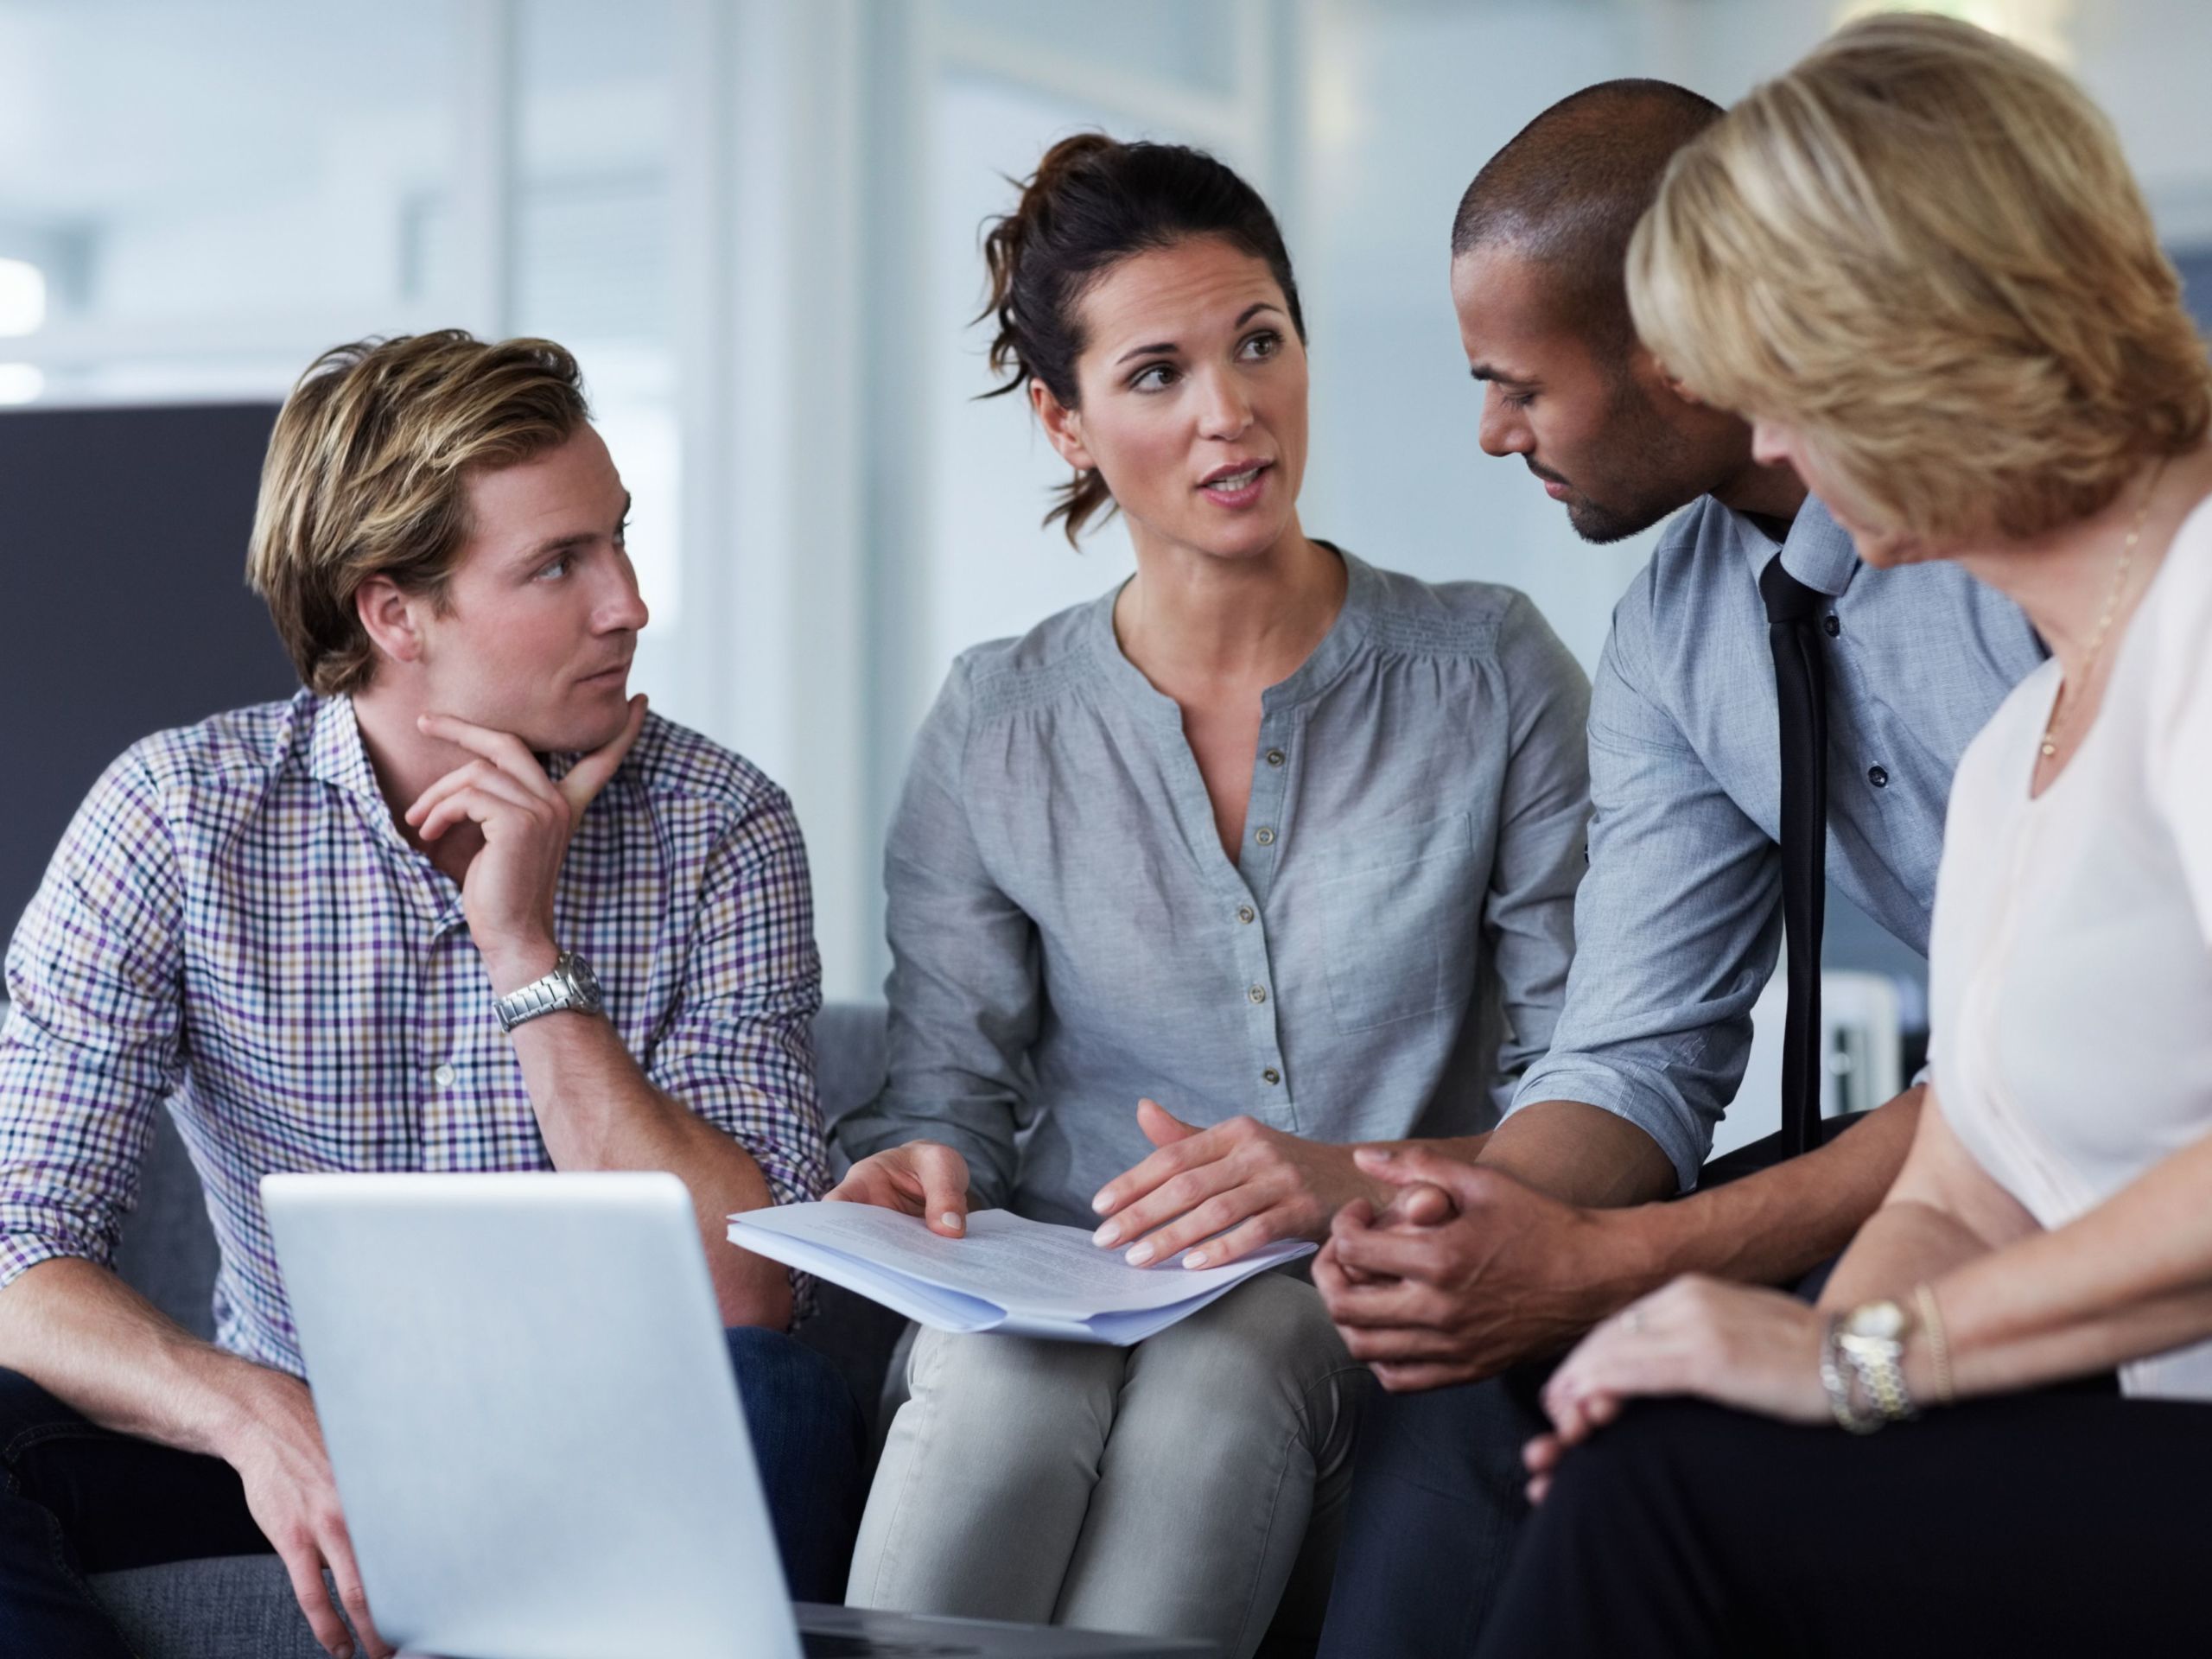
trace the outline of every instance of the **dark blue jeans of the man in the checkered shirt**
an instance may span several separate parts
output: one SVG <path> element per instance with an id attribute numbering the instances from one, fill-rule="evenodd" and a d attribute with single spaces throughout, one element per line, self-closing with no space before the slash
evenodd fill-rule
<path id="1" fill-rule="evenodd" d="M 865 1498 L 852 1389 L 783 1332 L 728 1338 L 783 1575 L 801 1601 L 841 1601 Z M 0 1655 L 128 1659 L 88 1573 L 270 1548 L 230 1464 L 95 1429 L 15 1371 L 0 1371 Z"/>

